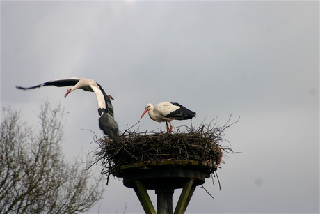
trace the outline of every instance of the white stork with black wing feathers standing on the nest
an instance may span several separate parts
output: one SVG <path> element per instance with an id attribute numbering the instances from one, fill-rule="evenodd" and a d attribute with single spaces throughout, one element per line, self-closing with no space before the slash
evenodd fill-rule
<path id="1" fill-rule="evenodd" d="M 140 119 L 142 119 L 145 113 L 148 113 L 154 121 L 166 122 L 167 132 L 172 132 L 173 130 L 173 126 L 171 125 L 172 120 L 187 120 L 195 116 L 195 112 L 179 105 L 177 102 L 161 102 L 154 107 L 151 103 L 148 103 Z M 170 123 L 170 128 L 168 122 Z"/>

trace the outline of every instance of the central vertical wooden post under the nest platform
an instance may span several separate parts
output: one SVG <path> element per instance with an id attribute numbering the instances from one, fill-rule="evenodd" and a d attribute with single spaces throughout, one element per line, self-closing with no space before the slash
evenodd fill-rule
<path id="1" fill-rule="evenodd" d="M 156 190 L 157 214 L 173 214 L 174 190 Z"/>

